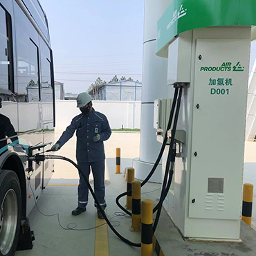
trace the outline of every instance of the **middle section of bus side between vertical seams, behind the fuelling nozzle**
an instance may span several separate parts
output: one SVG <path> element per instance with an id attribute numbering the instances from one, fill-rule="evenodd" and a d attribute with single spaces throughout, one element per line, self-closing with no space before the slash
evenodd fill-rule
<path id="1" fill-rule="evenodd" d="M 15 2 L 14 2 L 15 3 Z M 28 145 L 44 142 L 42 116 L 42 90 L 39 62 L 39 35 L 24 12 L 15 3 L 16 49 L 17 49 L 17 91 L 19 116 L 19 140 Z M 35 153 L 37 153 L 35 151 Z M 42 192 L 43 167 L 33 163 L 30 185 L 36 199 Z M 28 194 L 31 193 L 28 185 Z M 28 199 L 27 210 L 33 208 L 33 199 Z"/>

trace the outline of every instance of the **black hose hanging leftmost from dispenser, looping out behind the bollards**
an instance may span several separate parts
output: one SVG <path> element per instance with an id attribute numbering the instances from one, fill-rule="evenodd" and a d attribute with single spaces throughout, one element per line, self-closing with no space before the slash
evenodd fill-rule
<path id="1" fill-rule="evenodd" d="M 163 152 L 165 151 L 165 146 L 167 144 L 167 132 L 170 130 L 171 128 L 171 125 L 172 125 L 172 119 L 173 119 L 173 116 L 174 116 L 174 110 L 175 110 L 175 107 L 176 107 L 176 101 L 177 101 L 177 97 L 178 97 L 178 92 L 179 92 L 179 88 L 176 88 L 175 91 L 174 91 L 174 100 L 172 101 L 172 109 L 171 109 L 171 112 L 170 112 L 170 118 L 169 118 L 169 121 L 168 121 L 168 125 L 167 125 L 167 129 L 165 131 L 165 138 L 163 140 L 163 145 L 161 147 L 161 150 L 158 154 L 158 158 L 156 159 L 156 163 L 154 163 L 154 166 L 152 167 L 152 170 L 149 172 L 149 174 L 147 175 L 146 179 L 141 183 L 141 187 L 143 187 L 143 185 L 145 185 L 147 183 L 147 181 L 149 181 L 149 179 L 152 177 L 152 175 L 154 174 L 154 172 L 156 171 L 156 167 L 158 167 L 158 164 L 160 163 L 161 161 L 161 158 L 163 156 Z M 164 187 L 163 187 L 164 188 Z M 118 207 L 124 211 L 125 213 L 127 213 L 129 216 L 131 216 L 131 212 L 129 212 L 127 209 L 125 209 L 120 203 L 119 203 L 119 200 L 122 198 L 122 196 L 126 196 L 128 194 L 128 191 L 127 192 L 123 192 L 122 194 L 118 195 L 116 197 L 116 204 L 118 205 Z M 154 212 L 157 210 L 158 208 L 158 205 L 159 203 L 156 205 L 156 207 L 154 208 Z"/>

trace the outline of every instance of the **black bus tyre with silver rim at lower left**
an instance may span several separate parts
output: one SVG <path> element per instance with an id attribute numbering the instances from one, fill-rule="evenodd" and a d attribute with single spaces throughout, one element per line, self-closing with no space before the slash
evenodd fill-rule
<path id="1" fill-rule="evenodd" d="M 21 189 L 15 172 L 0 173 L 0 256 L 15 255 L 21 225 Z"/>

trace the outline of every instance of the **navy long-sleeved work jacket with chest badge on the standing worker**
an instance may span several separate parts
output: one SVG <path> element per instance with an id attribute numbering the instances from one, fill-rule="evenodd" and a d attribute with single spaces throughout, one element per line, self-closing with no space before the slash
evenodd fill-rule
<path id="1" fill-rule="evenodd" d="M 57 143 L 62 147 L 76 131 L 76 158 L 78 162 L 95 162 L 105 159 L 103 141 L 111 136 L 111 128 L 107 117 L 93 109 L 89 115 L 73 118 L 71 125 L 66 127 Z M 93 137 L 100 134 L 100 140 L 93 142 Z"/>

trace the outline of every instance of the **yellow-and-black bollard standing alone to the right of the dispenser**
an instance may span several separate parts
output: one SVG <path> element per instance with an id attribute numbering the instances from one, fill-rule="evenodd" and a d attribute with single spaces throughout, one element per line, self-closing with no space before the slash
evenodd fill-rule
<path id="1" fill-rule="evenodd" d="M 244 183 L 244 194 L 243 194 L 243 210 L 241 219 L 252 226 L 252 210 L 253 210 L 253 184 Z"/>

